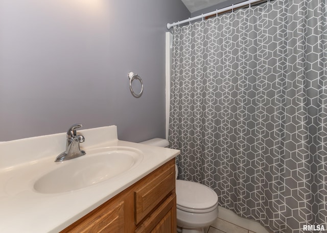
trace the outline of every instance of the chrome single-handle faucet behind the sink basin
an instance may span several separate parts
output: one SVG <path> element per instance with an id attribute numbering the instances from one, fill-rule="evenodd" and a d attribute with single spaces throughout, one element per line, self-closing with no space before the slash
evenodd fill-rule
<path id="1" fill-rule="evenodd" d="M 76 128 L 82 127 L 82 124 L 73 124 L 67 131 L 66 151 L 59 154 L 55 162 L 71 160 L 84 156 L 86 152 L 80 149 L 80 143 L 85 141 L 83 135 L 76 136 Z"/>

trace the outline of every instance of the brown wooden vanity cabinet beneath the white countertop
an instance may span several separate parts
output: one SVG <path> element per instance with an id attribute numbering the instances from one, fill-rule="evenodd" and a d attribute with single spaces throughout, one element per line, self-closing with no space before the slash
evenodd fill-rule
<path id="1" fill-rule="evenodd" d="M 172 159 L 61 233 L 175 233 L 176 227 Z"/>

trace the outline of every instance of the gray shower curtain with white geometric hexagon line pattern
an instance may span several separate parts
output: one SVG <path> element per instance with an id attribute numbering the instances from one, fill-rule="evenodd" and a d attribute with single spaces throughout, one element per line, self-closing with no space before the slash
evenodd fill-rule
<path id="1" fill-rule="evenodd" d="M 179 178 L 273 232 L 327 227 L 326 12 L 275 0 L 173 29 Z"/>

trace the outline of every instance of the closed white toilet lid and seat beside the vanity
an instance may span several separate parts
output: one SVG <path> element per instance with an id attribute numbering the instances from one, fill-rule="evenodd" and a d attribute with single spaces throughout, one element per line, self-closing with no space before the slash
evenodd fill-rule
<path id="1" fill-rule="evenodd" d="M 176 179 L 177 209 L 191 213 L 207 213 L 218 206 L 218 196 L 205 185 Z"/>

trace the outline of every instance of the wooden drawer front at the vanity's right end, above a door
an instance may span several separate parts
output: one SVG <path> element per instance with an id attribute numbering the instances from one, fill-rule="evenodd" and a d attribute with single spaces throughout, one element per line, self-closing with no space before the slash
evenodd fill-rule
<path id="1" fill-rule="evenodd" d="M 141 188 L 134 191 L 135 224 L 141 222 L 174 189 L 175 160 L 171 160 L 150 177 L 146 177 Z"/>

